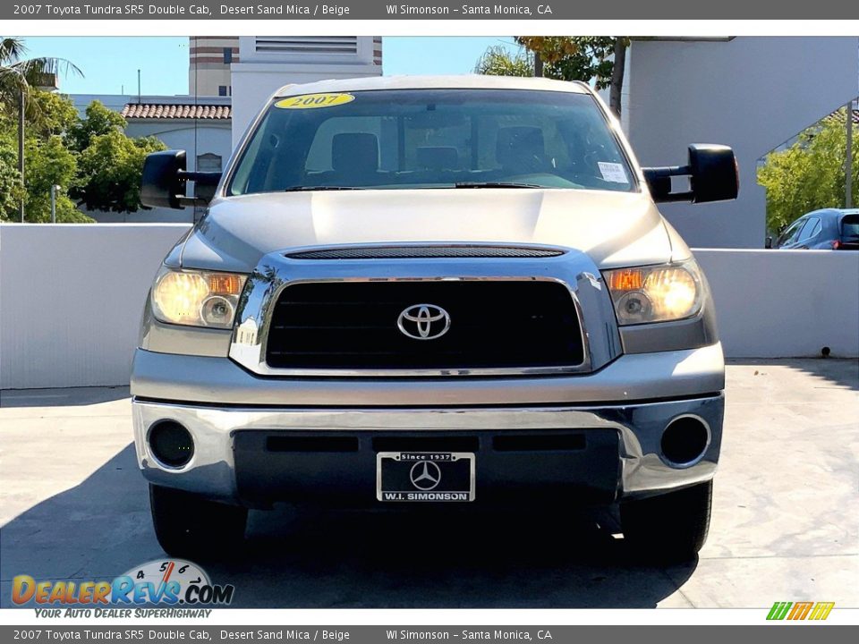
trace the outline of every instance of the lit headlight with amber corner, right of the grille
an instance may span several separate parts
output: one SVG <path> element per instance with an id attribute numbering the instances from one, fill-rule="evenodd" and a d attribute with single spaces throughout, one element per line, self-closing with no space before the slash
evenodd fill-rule
<path id="1" fill-rule="evenodd" d="M 603 276 L 621 326 L 691 318 L 701 310 L 701 271 L 693 259 L 683 264 L 618 268 Z"/>

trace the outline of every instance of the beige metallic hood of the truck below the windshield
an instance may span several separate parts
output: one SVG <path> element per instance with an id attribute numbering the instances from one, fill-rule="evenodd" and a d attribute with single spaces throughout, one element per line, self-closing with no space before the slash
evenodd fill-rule
<path id="1" fill-rule="evenodd" d="M 501 242 L 580 250 L 597 267 L 610 268 L 667 262 L 672 239 L 675 256 L 687 256 L 688 249 L 677 248 L 676 236 L 669 236 L 659 211 L 643 193 L 289 192 L 217 199 L 186 237 L 179 260 L 183 267 L 249 272 L 270 252 L 305 246 Z"/>

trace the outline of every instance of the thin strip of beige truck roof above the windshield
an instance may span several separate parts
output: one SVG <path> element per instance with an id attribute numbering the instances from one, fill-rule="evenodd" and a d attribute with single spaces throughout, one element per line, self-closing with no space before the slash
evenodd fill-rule
<path id="1" fill-rule="evenodd" d="M 353 79 L 317 80 L 311 83 L 285 85 L 276 97 L 289 97 L 317 92 L 361 91 L 367 89 L 540 89 L 586 94 L 591 91 L 579 81 L 549 80 L 515 76 L 459 74 L 447 76 L 369 76 Z"/>

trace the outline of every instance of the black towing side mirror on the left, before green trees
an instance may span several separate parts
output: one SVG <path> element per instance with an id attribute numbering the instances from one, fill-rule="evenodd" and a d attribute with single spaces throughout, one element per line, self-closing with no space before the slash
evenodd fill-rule
<path id="1" fill-rule="evenodd" d="M 184 150 L 165 150 L 147 155 L 140 182 L 140 203 L 149 208 L 205 206 L 215 195 L 220 173 L 190 173 L 185 170 Z M 194 182 L 195 197 L 185 196 L 187 182 Z"/>

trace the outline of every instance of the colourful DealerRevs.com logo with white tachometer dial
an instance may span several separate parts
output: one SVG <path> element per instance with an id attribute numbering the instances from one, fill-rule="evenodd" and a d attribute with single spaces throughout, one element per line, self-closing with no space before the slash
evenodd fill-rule
<path id="1" fill-rule="evenodd" d="M 233 585 L 213 584 L 199 565 L 182 559 L 150 561 L 113 580 L 37 581 L 24 574 L 12 582 L 15 605 L 39 607 L 226 606 L 234 592 Z"/>

